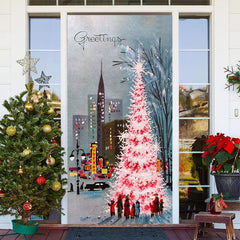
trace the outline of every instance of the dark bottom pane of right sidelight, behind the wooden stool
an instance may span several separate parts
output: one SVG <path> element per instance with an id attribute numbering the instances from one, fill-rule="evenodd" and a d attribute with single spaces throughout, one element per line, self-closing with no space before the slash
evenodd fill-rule
<path id="1" fill-rule="evenodd" d="M 208 198 L 209 188 L 186 187 L 179 188 L 180 219 L 193 219 L 194 214 L 206 211 L 205 200 Z"/>

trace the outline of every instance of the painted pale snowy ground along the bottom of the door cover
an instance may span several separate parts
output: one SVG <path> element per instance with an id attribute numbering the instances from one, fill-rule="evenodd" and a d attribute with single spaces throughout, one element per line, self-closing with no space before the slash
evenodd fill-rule
<path id="1" fill-rule="evenodd" d="M 109 189 L 99 191 L 81 191 L 68 193 L 68 222 L 69 224 L 163 224 L 172 223 L 172 210 L 165 209 L 160 216 L 151 218 L 150 213 L 141 214 L 139 218 L 125 219 L 116 216 L 110 217 L 106 196 Z M 168 190 L 168 197 L 172 202 L 172 193 Z M 171 205 L 171 204 L 169 204 Z"/>

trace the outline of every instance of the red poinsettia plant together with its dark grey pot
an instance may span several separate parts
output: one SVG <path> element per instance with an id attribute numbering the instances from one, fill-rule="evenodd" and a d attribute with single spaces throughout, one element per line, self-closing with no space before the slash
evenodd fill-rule
<path id="1" fill-rule="evenodd" d="M 203 164 L 210 167 L 218 192 L 229 194 L 229 199 L 239 199 L 240 139 L 225 136 L 223 133 L 210 135 L 203 151 Z"/>

